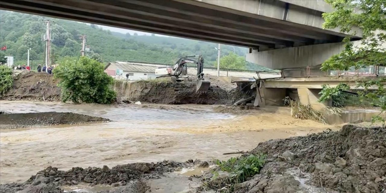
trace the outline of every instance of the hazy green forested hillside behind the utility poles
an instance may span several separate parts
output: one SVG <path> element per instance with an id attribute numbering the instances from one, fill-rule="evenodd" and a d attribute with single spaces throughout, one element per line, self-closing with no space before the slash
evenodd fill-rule
<path id="1" fill-rule="evenodd" d="M 109 61 L 144 61 L 174 63 L 179 57 L 190 54 L 203 54 L 207 66 L 213 66 L 217 59 L 217 44 L 176 37 L 138 36 L 103 30 L 93 24 L 54 19 L 38 15 L 0 11 L 0 46 L 7 46 L 5 55 L 14 56 L 15 64 L 25 64 L 27 49 L 31 48 L 30 59 L 34 64 L 43 63 L 45 42 L 41 36 L 45 33 L 43 20 L 50 20 L 52 41 L 52 60 L 78 57 L 81 49 L 81 35 L 87 36 L 87 46 L 91 51 Z M 245 57 L 248 49 L 222 45 L 222 56 L 235 52 Z M 234 56 L 234 55 L 232 55 Z M 245 61 L 245 60 L 244 60 Z M 244 64 L 243 64 L 244 65 Z M 34 65 L 35 66 L 35 65 Z M 238 68 L 238 66 L 232 66 Z M 260 69 L 256 64 L 245 63 L 240 68 Z"/>

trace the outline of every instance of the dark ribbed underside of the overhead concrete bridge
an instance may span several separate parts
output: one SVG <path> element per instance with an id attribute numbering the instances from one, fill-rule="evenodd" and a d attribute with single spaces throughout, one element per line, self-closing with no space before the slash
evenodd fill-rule
<path id="1" fill-rule="evenodd" d="M 345 36 L 288 22 L 288 3 L 263 2 L 282 8 L 283 20 L 195 0 L 1 0 L 0 8 L 251 48 L 339 42 Z"/>

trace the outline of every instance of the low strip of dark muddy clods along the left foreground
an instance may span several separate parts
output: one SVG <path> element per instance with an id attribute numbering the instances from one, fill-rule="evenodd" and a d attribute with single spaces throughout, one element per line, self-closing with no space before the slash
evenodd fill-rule
<path id="1" fill-rule="evenodd" d="M 117 165 L 111 169 L 107 166 L 103 168 L 72 168 L 68 171 L 61 171 L 58 168 L 47 167 L 39 171 L 36 175 L 24 183 L 7 183 L 0 185 L 0 193 L 27 192 L 27 193 L 62 193 L 59 186 L 78 185 L 78 183 L 90 183 L 90 185 L 105 184 L 112 187 L 123 186 L 109 192 L 132 192 L 127 190 L 147 190 L 146 183 L 141 180 L 158 179 L 163 177 L 163 173 L 172 172 L 180 168 L 193 166 L 208 167 L 208 163 L 200 160 L 188 160 L 186 162 L 162 161 L 158 163 L 132 163 Z M 135 186 L 135 187 L 134 187 Z M 125 190 L 125 191 L 120 191 Z M 69 191 L 72 193 L 74 191 Z"/>

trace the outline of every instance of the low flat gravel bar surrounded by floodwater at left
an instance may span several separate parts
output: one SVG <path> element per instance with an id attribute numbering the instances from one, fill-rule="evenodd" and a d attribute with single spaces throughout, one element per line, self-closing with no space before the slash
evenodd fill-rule
<path id="1" fill-rule="evenodd" d="M 71 112 L 10 113 L 0 114 L 0 129 L 105 121 L 110 120 Z"/>

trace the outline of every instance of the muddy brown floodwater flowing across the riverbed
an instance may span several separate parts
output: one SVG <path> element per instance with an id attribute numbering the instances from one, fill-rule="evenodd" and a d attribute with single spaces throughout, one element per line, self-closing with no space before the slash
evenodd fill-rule
<path id="1" fill-rule="evenodd" d="M 74 112 L 112 120 L 0 130 L 0 183 L 21 182 L 47 166 L 109 167 L 164 159 L 226 159 L 259 142 L 337 129 L 289 115 L 213 112 L 211 105 L 95 105 L 0 101 L 0 110 Z"/>

